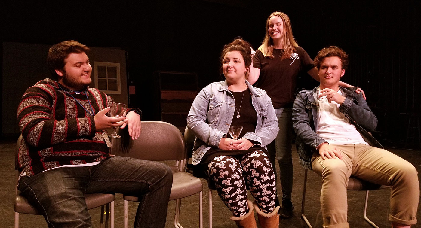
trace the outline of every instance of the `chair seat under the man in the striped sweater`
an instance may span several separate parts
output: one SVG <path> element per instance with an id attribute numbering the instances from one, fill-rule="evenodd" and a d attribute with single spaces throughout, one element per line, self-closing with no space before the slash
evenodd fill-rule
<path id="1" fill-rule="evenodd" d="M 114 201 L 114 199 L 114 194 L 85 194 L 85 201 L 88 209 L 93 209 L 104 204 L 111 203 Z M 15 212 L 31 215 L 41 215 L 41 213 L 38 212 L 38 210 L 28 202 L 28 199 L 22 195 L 21 191 L 18 191 L 16 194 Z"/>

